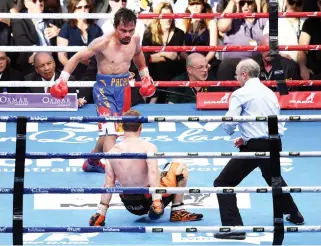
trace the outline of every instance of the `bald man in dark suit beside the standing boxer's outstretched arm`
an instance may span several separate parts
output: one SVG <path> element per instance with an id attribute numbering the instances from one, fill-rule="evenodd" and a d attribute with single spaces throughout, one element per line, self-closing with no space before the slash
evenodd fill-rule
<path id="1" fill-rule="evenodd" d="M 60 76 L 60 71 L 56 69 L 56 62 L 52 55 L 48 52 L 38 52 L 34 57 L 35 72 L 30 73 L 24 77 L 25 81 L 56 81 Z M 71 81 L 75 80 L 71 76 Z M 29 87 L 28 93 L 50 93 L 49 87 Z M 78 106 L 85 105 L 86 99 L 81 97 L 75 87 L 69 89 L 69 93 L 77 93 Z"/>

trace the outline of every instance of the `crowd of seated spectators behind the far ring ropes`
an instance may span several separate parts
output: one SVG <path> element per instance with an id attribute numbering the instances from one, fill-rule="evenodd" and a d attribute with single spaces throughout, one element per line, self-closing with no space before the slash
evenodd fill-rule
<path id="1" fill-rule="evenodd" d="M 278 0 L 279 12 L 321 11 L 321 0 Z M 268 12 L 268 0 L 1 0 L 0 13 L 115 13 L 127 7 L 136 13 L 254 13 Z M 279 45 L 321 44 L 320 18 L 279 18 Z M 87 46 L 113 31 L 112 19 L 3 19 L 0 15 L 0 46 Z M 136 34 L 143 46 L 268 45 L 269 21 L 245 19 L 139 19 Z M 254 58 L 261 66 L 261 80 L 273 80 L 269 52 L 145 53 L 155 81 L 235 80 L 236 64 Z M 0 52 L 0 81 L 53 81 L 74 53 Z M 281 51 L 285 79 L 320 79 L 321 51 Z M 202 61 L 195 62 L 195 59 Z M 195 65 L 194 65 L 195 63 Z M 140 80 L 135 66 L 131 71 Z M 78 65 L 71 79 L 93 81 L 94 58 Z M 206 75 L 206 76 L 205 76 Z M 195 101 L 206 88 L 161 88 L 146 101 L 132 88 L 133 102 L 182 103 Z M 235 88 L 210 88 L 228 91 Z M 291 88 L 295 90 L 295 88 Z M 301 88 L 302 89 L 302 88 Z M 305 88 L 309 89 L 309 88 Z M 48 88 L 3 88 L 0 92 L 47 92 Z M 75 89 L 79 98 L 92 103 L 91 88 Z"/>

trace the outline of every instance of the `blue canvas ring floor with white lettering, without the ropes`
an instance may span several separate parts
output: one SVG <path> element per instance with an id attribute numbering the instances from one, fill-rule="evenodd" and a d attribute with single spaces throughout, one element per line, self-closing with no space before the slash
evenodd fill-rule
<path id="1" fill-rule="evenodd" d="M 186 105 L 141 105 L 134 107 L 149 116 L 182 116 L 195 115 L 206 117 L 208 115 L 223 115 L 225 111 L 197 111 L 192 104 Z M 182 110 L 183 109 L 183 110 Z M 62 117 L 94 116 L 93 105 L 86 105 L 78 112 L 61 112 Z M 319 115 L 319 110 L 313 111 L 283 111 L 282 115 Z M 6 112 L 4 116 L 19 115 L 19 112 Z M 27 117 L 38 115 L 33 112 L 24 112 Z M 49 112 L 44 112 L 43 116 L 51 116 Z M 1 133 L 0 146 L 2 152 L 14 152 L 15 142 L 13 137 L 16 132 L 16 124 L 2 123 L 6 125 L 6 131 Z M 90 146 L 94 144 L 96 138 L 96 124 L 92 123 L 28 123 L 31 126 L 27 129 L 27 153 L 36 152 L 35 155 L 44 153 L 75 153 L 73 158 L 79 157 L 82 153 L 87 153 Z M 252 231 L 248 233 L 244 241 L 218 240 L 214 239 L 213 232 L 220 227 L 220 217 L 215 191 L 212 187 L 214 178 L 222 170 L 228 161 L 228 152 L 235 153 L 232 139 L 227 136 L 220 127 L 220 122 L 155 122 L 144 124 L 142 137 L 150 140 L 158 146 L 159 152 L 190 152 L 195 154 L 195 150 L 208 152 L 210 158 L 200 158 L 192 156 L 184 159 L 190 172 L 188 188 L 205 188 L 201 193 L 185 194 L 185 204 L 191 211 L 201 210 L 204 213 L 204 219 L 199 222 L 189 223 L 170 223 L 169 210 L 166 209 L 164 216 L 159 221 L 149 221 L 146 217 L 137 217 L 125 212 L 117 195 L 114 195 L 112 206 L 108 212 L 106 223 L 107 229 L 93 228 L 92 233 L 86 233 L 90 229 L 87 227 L 91 214 L 96 211 L 99 203 L 99 194 L 82 194 L 85 187 L 102 187 L 103 174 L 83 173 L 81 166 L 84 158 L 79 159 L 41 159 L 26 160 L 25 187 L 33 188 L 29 193 L 42 193 L 46 189 L 70 187 L 71 189 L 62 189 L 69 194 L 29 194 L 24 196 L 24 227 L 36 227 L 37 233 L 26 233 L 24 235 L 24 244 L 88 244 L 102 245 L 108 242 L 108 245 L 213 245 L 213 244 L 271 244 L 273 240 L 273 213 L 271 190 L 267 188 L 260 171 L 255 171 L 247 177 L 239 187 L 235 188 L 238 196 L 238 205 L 244 218 L 244 224 L 249 225 L 243 229 Z M 307 192 L 318 192 L 320 186 L 319 158 L 321 149 L 321 133 L 319 131 L 320 122 L 289 122 L 286 123 L 286 132 L 283 137 L 283 146 L 285 151 L 308 151 L 314 153 L 316 157 L 301 158 L 297 153 L 293 156 L 281 157 L 282 175 L 287 180 L 289 187 L 307 187 Z M 304 131 L 302 131 L 304 129 Z M 308 139 L 308 141 L 307 141 Z M 50 150 L 50 151 L 49 151 Z M 220 157 L 215 152 L 223 152 L 225 158 Z M 43 153 L 41 153 L 43 152 Z M 237 154 L 237 153 L 236 153 Z M 289 154 L 284 152 L 284 155 Z M 302 152 L 304 154 L 304 152 Z M 4 153 L 1 153 L 2 157 Z M 200 152 L 201 155 L 201 152 Z M 170 158 L 166 158 L 170 159 Z M 165 159 L 160 159 L 160 167 L 165 164 Z M 14 160 L 1 159 L 0 165 L 0 187 L 11 188 L 14 179 Z M 312 187 L 314 186 L 314 189 Z M 207 189 L 206 189 L 207 187 Z M 250 187 L 244 190 L 242 187 Z M 261 194 L 256 194 L 257 187 L 261 187 Z M 212 190 L 211 190 L 212 189 Z M 0 189 L 4 192 L 3 189 Z M 217 190 L 216 190 L 217 191 Z M 306 224 L 301 228 L 320 231 L 320 218 L 317 214 L 321 212 L 321 197 L 319 194 L 305 193 L 293 194 L 294 199 L 305 216 Z M 7 191 L 8 192 L 8 191 Z M 53 191 L 54 192 L 54 191 Z M 89 191 L 90 192 L 90 191 Z M 92 190 L 91 192 L 98 192 Z M 146 192 L 142 191 L 141 192 Z M 185 192 L 187 191 L 185 189 Z M 249 192 L 249 193 L 246 193 Z M 262 193 L 269 194 L 262 194 Z M 292 191 L 295 192 L 295 191 Z M 70 194 L 74 193 L 74 194 Z M 259 191 L 260 193 L 260 191 Z M 2 226 L 11 227 L 12 221 L 12 195 L 1 194 L 3 201 L 0 206 L 1 229 Z M 313 209 L 311 209 L 313 208 Z M 253 232 L 253 227 L 261 228 L 266 225 L 265 232 Z M 121 228 L 128 227 L 129 228 Z M 286 227 L 295 228 L 287 222 Z M 44 229 L 48 227 L 47 229 Z M 52 230 L 61 233 L 45 233 L 43 230 Z M 131 228 L 133 227 L 133 228 Z M 144 228 L 146 227 L 146 228 Z M 202 228 L 203 227 L 203 228 Z M 60 229 L 59 229 L 60 228 Z M 109 228 L 109 229 L 108 229 Z M 149 231 L 151 228 L 164 228 L 163 233 Z M 176 228 L 176 229 L 175 229 Z M 190 232 L 186 232 L 190 228 Z M 300 228 L 300 227 L 298 227 Z M 82 231 L 80 231 L 82 229 Z M 121 236 L 117 230 L 136 232 L 122 233 Z M 141 234 L 147 230 L 150 234 Z M 195 229 L 198 231 L 195 232 Z M 35 231 L 37 229 L 34 229 Z M 73 231 L 74 230 L 74 231 Z M 76 233 L 77 230 L 79 233 Z M 87 231 L 86 231 L 87 230 Z M 113 230 L 115 232 L 113 232 Z M 194 231 L 193 231 L 194 230 Z M 202 230 L 204 232 L 202 232 Z M 242 228 L 241 228 L 242 230 Z M 32 229 L 31 229 L 32 232 Z M 83 233 L 82 233 L 83 232 Z M 149 240 L 146 240 L 148 238 Z M 0 233 L 0 245 L 12 244 L 10 234 Z M 318 233 L 300 232 L 288 233 L 285 235 L 284 244 L 320 244 Z"/>

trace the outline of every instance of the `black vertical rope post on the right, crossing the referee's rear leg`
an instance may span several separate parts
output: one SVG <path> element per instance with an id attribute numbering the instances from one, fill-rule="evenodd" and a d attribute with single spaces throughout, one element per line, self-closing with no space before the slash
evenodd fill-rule
<path id="1" fill-rule="evenodd" d="M 276 115 L 268 117 L 268 128 L 270 141 L 270 165 L 274 218 L 273 245 L 282 245 L 284 239 L 284 221 L 283 208 L 281 205 L 283 196 L 280 164 L 281 141 L 278 130 L 278 118 Z"/>

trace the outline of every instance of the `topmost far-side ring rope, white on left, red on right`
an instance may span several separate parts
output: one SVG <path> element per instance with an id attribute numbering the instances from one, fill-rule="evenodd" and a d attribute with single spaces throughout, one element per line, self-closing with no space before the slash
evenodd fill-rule
<path id="1" fill-rule="evenodd" d="M 143 13 L 138 14 L 138 19 L 243 19 L 243 18 L 269 18 L 269 13 L 173 13 L 173 14 L 155 14 Z M 4 19 L 112 19 L 113 14 L 105 13 L 0 13 L 0 17 Z M 321 17 L 321 12 L 279 12 L 279 18 L 318 18 Z"/>

